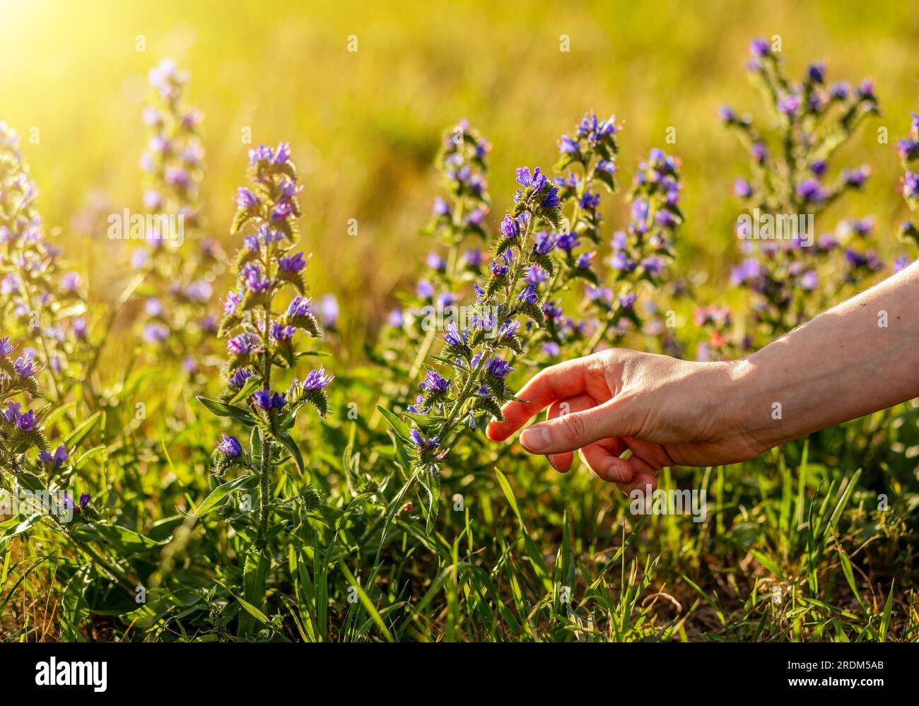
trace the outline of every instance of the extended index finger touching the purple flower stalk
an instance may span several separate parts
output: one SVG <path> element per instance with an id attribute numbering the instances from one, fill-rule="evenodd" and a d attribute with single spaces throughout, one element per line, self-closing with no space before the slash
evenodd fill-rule
<path id="1" fill-rule="evenodd" d="M 523 427 L 531 416 L 538 415 L 556 400 L 583 393 L 586 386 L 585 370 L 583 358 L 565 360 L 540 370 L 517 393 L 516 396 L 524 402 L 508 402 L 501 409 L 505 420 L 488 425 L 488 438 L 504 441 Z"/>

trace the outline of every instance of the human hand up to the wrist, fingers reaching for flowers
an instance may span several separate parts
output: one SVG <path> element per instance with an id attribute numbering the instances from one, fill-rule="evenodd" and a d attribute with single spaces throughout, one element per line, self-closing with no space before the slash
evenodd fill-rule
<path id="1" fill-rule="evenodd" d="M 604 350 L 542 370 L 509 402 L 488 436 L 503 441 L 546 407 L 545 422 L 520 443 L 571 469 L 573 451 L 600 478 L 633 488 L 656 486 L 664 466 L 746 461 L 765 447 L 743 428 L 744 361 L 700 363 Z M 736 414 L 735 414 L 736 412 Z M 629 458 L 620 458 L 630 450 Z"/>

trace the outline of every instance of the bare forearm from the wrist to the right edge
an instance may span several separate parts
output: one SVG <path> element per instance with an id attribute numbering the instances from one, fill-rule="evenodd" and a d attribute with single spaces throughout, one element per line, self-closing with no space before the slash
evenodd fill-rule
<path id="1" fill-rule="evenodd" d="M 739 361 L 727 413 L 771 448 L 919 396 L 917 304 L 919 263 Z"/>

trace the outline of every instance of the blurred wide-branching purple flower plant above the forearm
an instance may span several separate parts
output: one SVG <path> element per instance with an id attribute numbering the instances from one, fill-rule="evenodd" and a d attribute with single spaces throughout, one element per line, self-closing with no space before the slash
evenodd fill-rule
<path id="1" fill-rule="evenodd" d="M 747 68 L 764 91 L 775 128 L 764 131 L 749 115 L 720 109 L 720 119 L 736 131 L 751 157 L 750 175 L 736 180 L 734 193 L 754 215 L 789 216 L 796 225 L 798 216 L 812 216 L 817 223 L 831 204 L 868 179 L 867 165 L 842 169 L 835 177 L 830 165 L 859 126 L 879 113 L 873 85 L 868 79 L 857 87 L 828 85 L 823 62 L 811 63 L 795 82 L 766 40 L 754 40 L 750 52 Z M 733 269 L 732 283 L 754 292 L 756 320 L 770 339 L 838 297 L 839 282 L 831 278 L 838 269 L 845 273 L 844 283 L 853 283 L 883 267 L 866 247 L 868 218 L 841 222 L 835 234 L 811 233 L 812 244 L 800 230 L 798 237 L 785 233 L 783 240 L 759 240 L 750 232 L 759 231 L 759 222 L 750 223 L 739 224 L 744 259 Z M 747 340 L 755 344 L 752 337 Z"/>

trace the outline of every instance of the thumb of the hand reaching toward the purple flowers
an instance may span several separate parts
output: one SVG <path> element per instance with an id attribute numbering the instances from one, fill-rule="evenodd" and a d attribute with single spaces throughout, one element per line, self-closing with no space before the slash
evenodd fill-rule
<path id="1" fill-rule="evenodd" d="M 530 453 L 551 454 L 583 449 L 602 438 L 630 436 L 626 412 L 615 400 L 584 412 L 548 419 L 528 427 L 520 443 Z"/>

